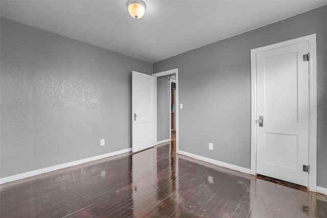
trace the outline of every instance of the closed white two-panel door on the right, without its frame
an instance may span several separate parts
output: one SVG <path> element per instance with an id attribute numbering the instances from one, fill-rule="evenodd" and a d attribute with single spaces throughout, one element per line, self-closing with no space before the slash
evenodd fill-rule
<path id="1" fill-rule="evenodd" d="M 256 172 L 308 187 L 308 42 L 256 53 Z M 263 126 L 259 126 L 263 116 Z"/>

